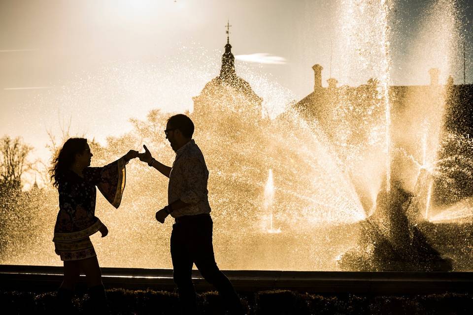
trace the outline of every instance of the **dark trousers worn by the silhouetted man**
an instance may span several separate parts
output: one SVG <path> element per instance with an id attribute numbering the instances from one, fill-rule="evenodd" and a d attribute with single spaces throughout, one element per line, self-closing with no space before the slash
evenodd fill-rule
<path id="1" fill-rule="evenodd" d="M 185 216 L 172 225 L 171 257 L 174 283 L 179 290 L 184 314 L 197 314 L 196 291 L 192 283 L 195 263 L 203 278 L 212 284 L 235 314 L 244 314 L 233 285 L 218 269 L 212 245 L 213 222 L 210 215 Z"/>

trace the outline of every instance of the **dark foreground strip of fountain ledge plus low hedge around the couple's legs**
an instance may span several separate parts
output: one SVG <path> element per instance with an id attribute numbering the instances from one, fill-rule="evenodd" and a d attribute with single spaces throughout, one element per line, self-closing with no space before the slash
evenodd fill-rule
<path id="1" fill-rule="evenodd" d="M 101 268 L 111 314 L 179 314 L 170 269 Z M 472 272 L 224 271 L 251 315 L 473 314 Z M 55 314 L 62 267 L 0 265 L 0 314 Z M 197 270 L 200 314 L 225 314 Z M 91 314 L 85 277 L 73 299 Z M 308 293 L 307 293 L 308 292 Z"/>

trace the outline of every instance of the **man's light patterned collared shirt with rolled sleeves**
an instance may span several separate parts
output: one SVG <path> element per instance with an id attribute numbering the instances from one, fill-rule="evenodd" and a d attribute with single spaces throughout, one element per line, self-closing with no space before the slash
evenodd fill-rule
<path id="1" fill-rule="evenodd" d="M 176 151 L 169 173 L 168 204 L 181 199 L 188 206 L 171 212 L 173 218 L 210 213 L 208 170 L 201 149 L 194 139 Z"/>

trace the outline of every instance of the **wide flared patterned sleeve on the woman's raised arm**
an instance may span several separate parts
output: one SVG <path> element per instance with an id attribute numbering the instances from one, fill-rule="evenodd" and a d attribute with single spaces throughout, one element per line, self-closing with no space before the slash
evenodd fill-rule
<path id="1" fill-rule="evenodd" d="M 119 158 L 103 167 L 87 167 L 83 171 L 85 180 L 97 186 L 105 199 L 115 208 L 120 206 L 125 189 L 125 164 L 125 160 Z"/>

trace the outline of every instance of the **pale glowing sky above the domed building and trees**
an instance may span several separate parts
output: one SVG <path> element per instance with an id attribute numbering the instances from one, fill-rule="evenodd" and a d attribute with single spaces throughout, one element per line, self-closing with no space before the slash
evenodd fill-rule
<path id="1" fill-rule="evenodd" d="M 425 50 L 419 45 L 428 40 L 417 31 L 433 3 L 442 1 L 451 2 L 391 1 L 392 84 L 428 83 L 430 65 L 418 66 L 415 73 L 422 75 L 403 65 Z M 129 118 L 144 118 L 152 108 L 192 110 L 192 96 L 219 72 L 227 19 L 236 72 L 271 108 L 312 91 L 314 63 L 324 66 L 326 85 L 331 52 L 332 76 L 341 85 L 362 84 L 369 74 L 345 78 L 339 48 L 333 48 L 337 12 L 347 2 L 2 0 L 0 136 L 22 136 L 35 147 L 34 156 L 44 158 L 47 130 L 59 134 L 69 119 L 71 134 L 103 141 L 128 131 Z M 457 2 L 472 82 L 472 8 L 466 0 Z M 457 63 L 452 75 L 459 83 Z"/>

